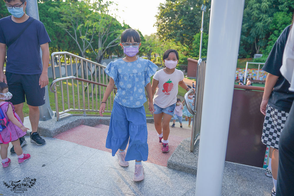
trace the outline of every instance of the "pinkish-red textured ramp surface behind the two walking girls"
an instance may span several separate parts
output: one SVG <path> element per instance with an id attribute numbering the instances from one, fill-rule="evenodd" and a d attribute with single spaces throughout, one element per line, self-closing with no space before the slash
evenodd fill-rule
<path id="1" fill-rule="evenodd" d="M 187 122 L 183 121 L 184 128 L 180 128 L 180 124 L 178 122 L 176 122 L 175 128 L 170 127 L 171 132 L 168 137 L 168 153 L 161 152 L 161 143 L 158 142 L 159 139 L 154 124 L 147 123 L 147 143 L 149 147 L 147 162 L 166 167 L 168 158 L 171 156 L 171 154 L 177 148 L 177 146 L 181 143 L 181 141 L 191 136 L 191 128 L 188 128 L 188 124 L 186 123 Z M 172 125 L 172 123 L 170 123 L 170 125 Z M 103 150 L 106 152 L 111 152 L 110 149 L 105 148 L 108 127 L 109 126 L 107 125 L 97 125 L 95 127 L 79 125 L 75 128 L 69 129 L 63 133 L 60 133 L 59 135 L 54 136 L 54 138 L 66 140 L 69 142 L 73 142 L 83 146 L 88 146 L 98 150 Z"/>

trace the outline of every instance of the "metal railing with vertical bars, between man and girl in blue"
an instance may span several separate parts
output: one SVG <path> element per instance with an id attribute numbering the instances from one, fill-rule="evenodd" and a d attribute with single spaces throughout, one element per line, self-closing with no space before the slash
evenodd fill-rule
<path id="1" fill-rule="evenodd" d="M 106 66 L 66 51 L 52 53 L 51 62 L 53 83 L 50 91 L 54 92 L 56 119 L 61 120 L 73 115 L 90 116 L 92 114 L 86 112 L 99 112 L 105 88 L 110 80 L 105 73 Z M 117 88 L 114 89 L 106 101 L 107 113 L 110 113 L 113 107 Z M 144 108 L 146 114 L 150 114 L 148 102 L 144 103 Z M 83 114 L 68 114 L 70 111 Z"/>

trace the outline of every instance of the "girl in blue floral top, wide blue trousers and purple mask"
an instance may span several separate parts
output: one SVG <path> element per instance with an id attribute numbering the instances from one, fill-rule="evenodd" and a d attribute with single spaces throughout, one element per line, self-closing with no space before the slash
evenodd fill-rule
<path id="1" fill-rule="evenodd" d="M 149 100 L 149 111 L 154 112 L 150 77 L 157 66 L 149 60 L 138 58 L 140 35 L 134 29 L 127 29 L 121 34 L 120 46 L 126 57 L 111 61 L 105 72 L 111 77 L 99 113 L 103 116 L 106 100 L 114 86 L 118 91 L 114 98 L 106 148 L 112 150 L 112 156 L 119 150 L 118 164 L 127 167 L 127 161 L 136 160 L 134 181 L 144 179 L 141 161 L 148 158 L 146 113 L 143 103 L 146 102 L 145 89 Z M 144 89 L 145 88 L 145 89 Z M 128 151 L 125 152 L 129 141 Z"/>

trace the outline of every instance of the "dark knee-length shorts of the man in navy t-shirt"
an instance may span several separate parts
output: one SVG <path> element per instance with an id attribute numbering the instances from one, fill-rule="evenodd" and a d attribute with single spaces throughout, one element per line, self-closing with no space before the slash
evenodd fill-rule
<path id="1" fill-rule="evenodd" d="M 26 103 L 31 106 L 45 104 L 45 87 L 39 85 L 41 74 L 23 75 L 6 72 L 9 92 L 12 94 L 10 101 L 13 105 Z"/>

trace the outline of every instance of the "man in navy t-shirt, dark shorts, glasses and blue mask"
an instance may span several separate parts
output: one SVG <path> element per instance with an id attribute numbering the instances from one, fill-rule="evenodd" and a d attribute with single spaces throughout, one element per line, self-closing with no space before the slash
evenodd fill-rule
<path id="1" fill-rule="evenodd" d="M 45 86 L 49 83 L 47 72 L 50 38 L 44 24 L 25 13 L 26 0 L 4 1 L 12 16 L 0 19 L 0 81 L 8 84 L 13 95 L 9 101 L 14 104 L 15 112 L 22 121 L 22 109 L 26 100 L 32 126 L 31 142 L 42 145 L 46 142 L 37 133 L 40 115 L 38 106 L 45 103 Z M 20 138 L 20 143 L 21 146 L 26 144 L 24 138 Z M 14 152 L 14 148 L 10 151 Z"/>

